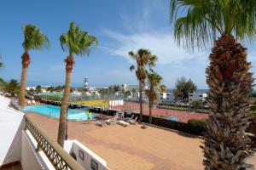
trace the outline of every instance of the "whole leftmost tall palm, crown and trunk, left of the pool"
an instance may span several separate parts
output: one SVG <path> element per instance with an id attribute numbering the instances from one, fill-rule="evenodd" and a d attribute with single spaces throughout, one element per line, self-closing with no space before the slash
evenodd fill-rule
<path id="1" fill-rule="evenodd" d="M 21 80 L 20 80 L 20 99 L 19 105 L 25 105 L 25 95 L 26 95 L 26 75 L 27 75 L 27 68 L 30 64 L 30 55 L 28 52 L 31 49 L 40 50 L 43 47 L 49 46 L 48 38 L 40 31 L 37 26 L 33 25 L 26 25 L 23 27 L 24 33 L 24 42 L 22 46 L 25 50 L 24 54 L 22 54 L 22 73 L 21 73 Z"/>

